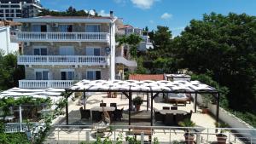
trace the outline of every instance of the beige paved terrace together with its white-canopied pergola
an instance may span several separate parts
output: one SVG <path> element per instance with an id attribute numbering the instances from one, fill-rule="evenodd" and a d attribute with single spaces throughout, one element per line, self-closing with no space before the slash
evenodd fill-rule
<path id="1" fill-rule="evenodd" d="M 130 85 L 127 86 L 127 84 Z M 200 107 L 196 105 L 197 98 L 203 93 L 217 95 L 216 98 L 218 100 L 218 91 L 197 81 L 140 82 L 131 80 L 109 82 L 102 80 L 83 80 L 66 90 L 79 92 L 81 98 L 69 103 L 68 107 L 66 107 L 66 118 L 59 119 L 60 123 L 55 124 L 47 141 L 45 141 L 46 143 L 95 141 L 96 136 L 99 135 L 101 135 L 101 137 L 109 137 L 111 140 L 116 141 L 116 138 L 120 134 L 124 137 L 137 135 L 140 137 L 140 141 L 151 141 L 154 137 L 157 137 L 160 143 L 170 143 L 173 141 L 185 141 L 183 135 L 185 134 L 184 130 L 187 129 L 189 129 L 190 133 L 195 135 L 196 138 L 193 141 L 196 141 L 197 143 L 210 143 L 217 141 L 216 130 L 222 130 L 221 128 L 216 129 L 214 126 L 214 123 L 216 121 L 218 122 L 218 107 L 216 113 L 213 113 L 216 115 L 216 118 L 212 118 L 212 116 L 208 114 L 203 114 Z M 114 95 L 111 95 L 109 92 L 112 92 Z M 92 93 L 92 95 L 90 95 L 90 93 Z M 176 106 L 175 103 L 171 104 L 165 101 L 166 98 L 164 94 L 167 93 L 189 93 L 191 94 L 192 102 L 186 102 L 186 105 L 183 106 Z M 137 96 L 143 98 L 143 105 L 139 111 L 135 111 L 135 108 L 131 104 L 133 101 L 132 98 Z M 116 107 L 110 108 L 111 103 L 116 103 Z M 177 119 L 177 113 L 173 114 L 174 117 L 176 117 L 174 119 L 171 118 L 173 121 L 170 119 L 167 121 L 156 121 L 159 117 L 155 112 L 166 112 L 162 111 L 163 107 L 173 106 L 177 107 L 179 112 L 184 112 L 186 114 L 192 111 L 191 120 L 195 122 L 196 126 L 194 128 L 180 127 L 174 120 Z M 96 122 L 100 121 L 101 118 L 97 119 L 95 114 L 95 111 L 104 111 L 102 107 L 108 111 L 110 116 L 113 116 L 113 118 L 111 117 L 110 126 L 108 125 L 108 128 L 111 127 L 111 129 L 104 132 L 101 132 L 101 127 L 96 125 Z M 112 109 L 114 109 L 113 112 Z M 114 115 L 115 109 L 122 111 L 122 117 Z M 84 117 L 83 110 L 87 110 L 90 114 Z M 176 110 L 167 110 L 167 112 L 175 111 Z M 253 130 L 242 130 L 244 131 L 243 134 L 247 135 L 246 137 L 244 135 L 237 135 L 236 130 L 224 128 L 224 130 L 227 129 L 230 130 L 230 132 L 225 133 L 228 142 L 242 143 L 245 141 L 255 141 L 255 139 L 253 139 Z"/>

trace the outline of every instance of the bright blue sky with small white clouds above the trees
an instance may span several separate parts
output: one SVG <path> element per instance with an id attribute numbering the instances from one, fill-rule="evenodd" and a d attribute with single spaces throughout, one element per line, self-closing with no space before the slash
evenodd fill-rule
<path id="1" fill-rule="evenodd" d="M 108 14 L 109 10 L 123 18 L 125 24 L 150 30 L 156 26 L 168 26 L 177 36 L 192 19 L 201 19 L 202 14 L 216 12 L 228 14 L 247 13 L 256 15 L 256 0 L 41 0 L 44 8 L 66 10 L 96 9 Z"/>

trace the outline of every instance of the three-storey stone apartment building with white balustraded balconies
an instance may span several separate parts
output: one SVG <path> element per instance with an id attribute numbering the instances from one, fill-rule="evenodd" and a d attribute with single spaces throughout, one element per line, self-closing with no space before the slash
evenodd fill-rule
<path id="1" fill-rule="evenodd" d="M 113 17 L 43 16 L 21 22 L 16 39 L 23 43 L 18 65 L 26 79 L 20 88 L 67 88 L 81 79 L 124 78 L 124 69 L 137 62 L 122 56 L 115 34 L 122 20 Z M 118 65 L 118 66 L 116 66 Z"/>

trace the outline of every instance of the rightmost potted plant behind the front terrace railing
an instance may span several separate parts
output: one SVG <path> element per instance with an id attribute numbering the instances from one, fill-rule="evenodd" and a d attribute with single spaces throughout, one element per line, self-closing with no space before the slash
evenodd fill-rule
<path id="1" fill-rule="evenodd" d="M 228 128 L 229 127 L 229 125 L 226 124 L 226 123 L 215 123 L 215 126 L 217 128 Z M 218 144 L 225 144 L 226 143 L 227 137 L 228 137 L 227 135 L 224 135 L 224 132 L 226 132 L 226 131 L 229 131 L 229 130 L 221 129 L 220 133 L 216 135 Z"/>

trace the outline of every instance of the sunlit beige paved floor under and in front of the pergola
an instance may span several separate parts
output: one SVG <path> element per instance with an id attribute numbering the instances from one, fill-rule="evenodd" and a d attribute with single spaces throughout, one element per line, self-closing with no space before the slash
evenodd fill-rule
<path id="1" fill-rule="evenodd" d="M 136 97 L 135 95 L 133 97 Z M 147 96 L 144 96 L 144 100 L 146 100 Z M 115 102 L 117 103 L 117 108 L 121 109 L 124 107 L 124 114 L 123 114 L 123 120 L 119 122 L 113 122 L 112 125 L 128 125 L 128 99 L 125 98 L 125 95 L 118 95 L 117 98 L 108 98 L 107 94 L 94 94 L 91 95 L 87 101 L 86 101 L 86 109 L 90 109 L 92 107 L 99 107 L 101 101 L 104 101 L 107 103 L 107 107 L 110 105 L 110 103 Z M 150 103 L 150 102 L 149 102 Z M 150 106 L 150 104 L 149 104 Z M 172 104 L 166 103 L 162 96 L 159 96 L 154 99 L 154 104 L 153 104 L 155 109 L 162 109 L 162 107 L 172 107 Z M 83 107 L 79 105 L 79 100 L 72 101 L 69 103 L 69 123 L 72 125 L 91 125 L 92 122 L 91 120 L 81 120 L 80 117 L 80 112 L 79 108 Z M 189 112 L 190 110 L 194 111 L 194 104 L 191 102 L 191 104 L 187 104 L 185 107 L 184 106 L 178 106 L 178 110 L 184 110 Z M 147 110 L 147 103 L 143 102 L 143 105 L 141 107 L 141 110 Z M 150 108 L 148 110 L 150 112 Z M 201 142 L 202 143 L 208 143 L 207 141 L 217 141 L 216 135 L 215 135 L 215 119 L 212 118 L 208 114 L 203 114 L 201 112 L 201 109 L 198 107 L 198 111 L 195 113 L 192 113 L 192 118 L 191 120 L 195 122 L 195 124 L 199 127 L 204 127 L 204 128 L 213 128 L 213 129 L 208 129 L 202 131 L 202 133 L 206 133 L 205 135 L 201 135 Z M 58 122 L 58 123 L 56 123 Z M 66 119 L 65 117 L 61 116 L 55 120 L 55 124 L 66 124 Z M 138 123 L 131 123 L 131 125 L 135 125 L 135 127 L 138 126 L 150 126 L 150 122 L 138 122 Z M 161 124 L 160 122 L 155 123 L 154 126 L 165 126 L 164 124 Z M 163 128 L 167 128 L 166 126 Z M 86 131 L 90 131 L 89 133 Z M 115 140 L 118 134 L 128 135 L 126 131 L 128 129 L 119 129 L 117 128 L 116 130 L 113 130 L 113 134 L 110 135 L 110 138 L 112 140 Z M 171 132 L 171 133 L 170 133 Z M 68 129 L 53 129 L 50 131 L 49 136 L 44 143 L 79 143 L 79 141 L 85 141 L 86 140 L 86 135 L 88 138 L 88 135 L 90 135 L 90 140 L 94 140 L 96 136 L 93 134 L 94 132 L 91 131 L 91 129 L 86 129 L 86 128 L 80 128 L 80 127 L 73 127 L 73 128 L 68 128 Z M 210 135 L 207 135 L 207 133 L 210 133 Z M 160 143 L 170 143 L 169 141 L 184 141 L 183 137 L 183 130 L 154 130 L 153 138 L 158 137 L 160 140 Z M 105 134 L 109 135 L 108 133 Z M 229 140 L 232 143 L 242 143 L 234 135 L 229 135 Z M 138 136 L 138 139 L 140 136 Z M 148 136 L 145 136 L 145 139 L 148 139 Z"/>

